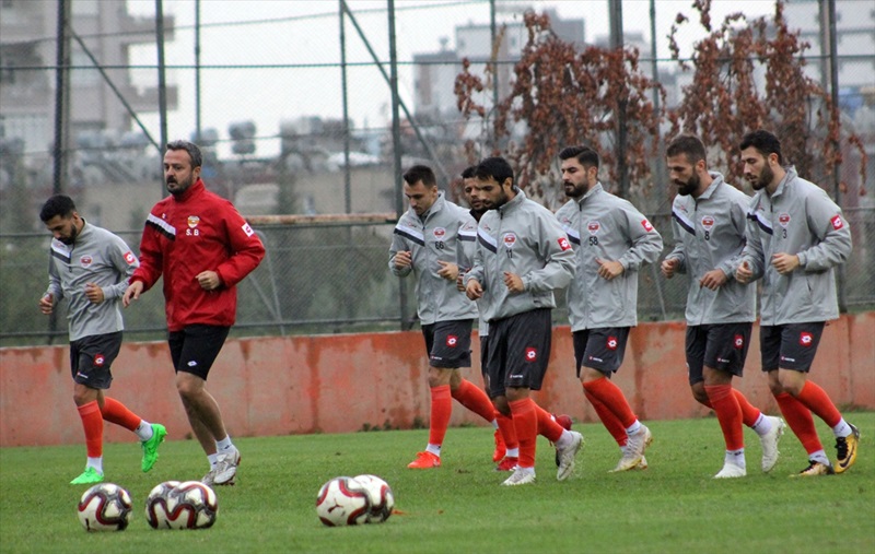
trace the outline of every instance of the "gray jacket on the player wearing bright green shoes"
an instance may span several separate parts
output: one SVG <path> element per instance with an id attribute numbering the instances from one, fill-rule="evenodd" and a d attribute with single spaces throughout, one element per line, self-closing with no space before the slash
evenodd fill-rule
<path id="1" fill-rule="evenodd" d="M 70 342 L 121 331 L 121 296 L 128 280 L 140 262 L 121 238 L 85 223 L 75 241 L 68 246 L 51 239 L 48 263 L 48 290 L 54 303 L 68 298 L 67 321 Z M 103 288 L 104 302 L 92 304 L 85 284 Z"/>

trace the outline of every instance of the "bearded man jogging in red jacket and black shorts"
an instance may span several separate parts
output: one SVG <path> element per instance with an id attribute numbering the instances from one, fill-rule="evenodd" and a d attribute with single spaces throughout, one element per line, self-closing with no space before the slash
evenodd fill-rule
<path id="1" fill-rule="evenodd" d="M 152 208 L 140 241 L 140 268 L 121 298 L 125 307 L 164 275 L 164 300 L 176 390 L 191 431 L 210 461 L 201 480 L 233 485 L 240 451 L 225 431 L 207 375 L 234 325 L 236 284 L 265 257 L 265 247 L 234 205 L 200 180 L 200 149 L 167 144 L 170 197 Z"/>

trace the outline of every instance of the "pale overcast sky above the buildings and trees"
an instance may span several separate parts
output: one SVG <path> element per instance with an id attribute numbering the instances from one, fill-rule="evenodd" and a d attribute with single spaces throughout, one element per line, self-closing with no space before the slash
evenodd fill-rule
<path id="1" fill-rule="evenodd" d="M 594 42 L 608 33 L 607 0 L 578 1 L 504 1 L 500 17 L 516 17 L 525 7 L 537 11 L 555 9 L 561 19 L 583 19 L 585 39 Z M 656 2 L 656 35 L 660 56 L 667 57 L 667 39 L 678 12 L 693 14 L 691 0 Z M 154 16 L 154 0 L 128 0 L 129 11 L 140 16 Z M 381 61 L 387 61 L 386 2 L 351 0 L 350 9 L 363 27 L 368 40 Z M 165 48 L 168 66 L 194 64 L 192 0 L 164 0 L 165 15 L 173 15 L 176 31 Z M 259 135 L 278 132 L 279 122 L 300 116 L 340 118 L 342 102 L 338 2 L 334 0 L 201 0 L 201 119 L 203 127 L 217 128 L 228 137 L 228 123 L 252 119 Z M 413 72 L 406 64 L 416 54 L 440 49 L 441 39 L 455 47 L 455 27 L 468 23 L 489 24 L 489 2 L 453 0 L 396 0 L 396 42 L 401 97 L 413 110 Z M 731 12 L 743 11 L 752 19 L 773 12 L 771 0 L 713 0 L 713 21 L 720 22 Z M 623 27 L 627 33 L 650 37 L 650 1 L 623 2 Z M 515 12 L 515 14 L 513 13 Z M 690 31 L 698 24 L 687 24 Z M 350 63 L 362 63 L 349 70 L 349 114 L 355 128 L 385 127 L 390 116 L 390 95 L 381 74 L 370 63 L 371 57 L 362 39 L 347 20 L 347 56 Z M 681 35 L 681 48 L 689 47 L 702 32 Z M 646 52 L 649 55 L 649 51 Z M 132 49 L 136 64 L 156 62 L 154 45 Z M 217 67 L 235 66 L 232 69 Z M 282 66 L 249 69 L 240 66 Z M 388 71 L 388 68 L 387 68 Z M 189 69 L 172 69 L 171 84 L 178 87 L 178 108 L 170 116 L 170 137 L 187 138 L 195 129 L 195 73 Z M 154 85 L 153 69 L 135 70 L 135 82 Z M 160 135 L 156 116 L 145 116 L 150 133 Z M 270 154 L 276 143 L 259 144 L 259 153 Z"/>

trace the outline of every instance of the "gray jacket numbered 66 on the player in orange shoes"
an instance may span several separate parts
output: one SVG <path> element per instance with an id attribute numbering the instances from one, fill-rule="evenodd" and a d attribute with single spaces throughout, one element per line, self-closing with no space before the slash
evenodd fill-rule
<path id="1" fill-rule="evenodd" d="M 399 276 L 412 272 L 417 278 L 417 314 L 422 325 L 477 317 L 477 305 L 456 287 L 456 282 L 438 274 L 439 261 L 456 263 L 464 270 L 466 259 L 472 258 L 476 237 L 477 222 L 443 192 L 422 217 L 411 208 L 398 219 L 389 247 L 389 270 Z M 398 269 L 395 255 L 405 250 L 412 255 L 412 268 Z"/>

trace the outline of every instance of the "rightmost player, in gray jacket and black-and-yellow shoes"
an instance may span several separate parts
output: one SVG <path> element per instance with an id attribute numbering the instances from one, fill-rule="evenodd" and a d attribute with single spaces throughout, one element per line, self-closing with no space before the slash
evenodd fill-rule
<path id="1" fill-rule="evenodd" d="M 739 149 L 745 178 L 756 193 L 735 279 L 742 283 L 762 279 L 762 370 L 784 420 L 808 452 L 808 467 L 797 475 L 842 473 L 856 461 L 860 432 L 844 421 L 808 373 L 826 321 L 839 317 L 833 268 L 851 254 L 851 229 L 824 189 L 801 178 L 792 165 L 784 167 L 778 137 L 752 131 Z M 836 436 L 835 468 L 812 412 Z"/>

